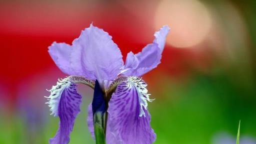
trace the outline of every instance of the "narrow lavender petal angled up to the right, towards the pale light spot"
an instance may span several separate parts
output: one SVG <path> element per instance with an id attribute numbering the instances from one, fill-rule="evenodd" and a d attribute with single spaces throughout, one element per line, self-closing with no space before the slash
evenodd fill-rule
<path id="1" fill-rule="evenodd" d="M 130 63 L 132 61 L 133 63 L 137 63 L 137 61 L 134 60 L 134 57 L 138 59 L 138 65 L 137 67 L 130 67 L 130 69 L 125 70 L 123 74 L 127 76 L 141 76 L 155 68 L 160 63 L 165 38 L 169 30 L 167 25 L 163 26 L 159 31 L 154 33 L 155 39 L 153 43 L 146 45 L 141 52 L 135 55 L 127 55 L 124 67 L 128 67 L 127 65 L 136 65 Z"/>

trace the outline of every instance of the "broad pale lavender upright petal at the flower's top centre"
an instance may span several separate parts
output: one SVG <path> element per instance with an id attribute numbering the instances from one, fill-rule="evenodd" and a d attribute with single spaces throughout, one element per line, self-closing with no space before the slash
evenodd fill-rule
<path id="1" fill-rule="evenodd" d="M 73 52 L 70 55 L 74 69 L 81 67 L 85 77 L 113 80 L 123 67 L 122 55 L 117 45 L 107 32 L 92 24 L 81 32 L 73 41 Z"/>

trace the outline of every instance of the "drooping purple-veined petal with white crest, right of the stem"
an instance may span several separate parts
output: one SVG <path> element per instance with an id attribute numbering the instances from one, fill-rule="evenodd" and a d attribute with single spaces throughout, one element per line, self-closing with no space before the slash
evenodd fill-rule
<path id="1" fill-rule="evenodd" d="M 147 111 L 145 82 L 137 77 L 129 77 L 120 83 L 108 105 L 107 144 L 152 144 L 155 133 L 150 127 L 150 115 Z M 113 137 L 114 136 L 114 137 Z"/>

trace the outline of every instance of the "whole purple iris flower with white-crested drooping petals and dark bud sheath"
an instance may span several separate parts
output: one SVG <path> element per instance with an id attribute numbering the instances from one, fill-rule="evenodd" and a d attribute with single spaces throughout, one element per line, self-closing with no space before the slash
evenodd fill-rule
<path id="1" fill-rule="evenodd" d="M 156 135 L 147 110 L 147 102 L 152 100 L 140 77 L 160 63 L 168 32 L 169 27 L 163 26 L 141 52 L 129 52 L 125 64 L 111 36 L 92 24 L 72 45 L 53 42 L 49 54 L 69 76 L 49 90 L 47 104 L 52 115 L 60 119 L 58 131 L 49 143 L 69 143 L 75 117 L 80 112 L 81 96 L 76 91 L 76 84 L 80 83 L 94 89 L 87 118 L 94 139 L 100 136 L 99 128 L 106 144 L 152 144 Z"/>

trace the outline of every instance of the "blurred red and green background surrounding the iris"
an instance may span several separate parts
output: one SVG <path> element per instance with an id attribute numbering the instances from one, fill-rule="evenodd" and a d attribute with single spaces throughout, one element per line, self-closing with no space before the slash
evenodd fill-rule
<path id="1" fill-rule="evenodd" d="M 0 144 L 48 144 L 58 118 L 46 99 L 65 75 L 47 47 L 79 36 L 91 22 L 127 52 L 168 24 L 161 64 L 143 78 L 154 144 L 256 144 L 255 0 L 0 0 Z M 69 144 L 94 144 L 83 95 Z"/>

